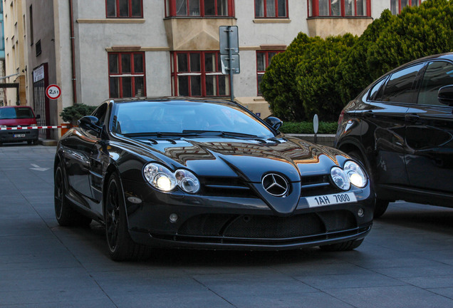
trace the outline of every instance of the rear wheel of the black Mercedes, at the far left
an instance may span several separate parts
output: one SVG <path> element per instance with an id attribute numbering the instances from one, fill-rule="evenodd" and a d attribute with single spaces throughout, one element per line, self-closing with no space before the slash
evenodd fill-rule
<path id="1" fill-rule="evenodd" d="M 63 168 L 59 164 L 55 170 L 53 178 L 53 202 L 55 207 L 55 217 L 58 225 L 68 226 L 88 226 L 91 218 L 76 211 L 66 198 L 66 178 Z"/>

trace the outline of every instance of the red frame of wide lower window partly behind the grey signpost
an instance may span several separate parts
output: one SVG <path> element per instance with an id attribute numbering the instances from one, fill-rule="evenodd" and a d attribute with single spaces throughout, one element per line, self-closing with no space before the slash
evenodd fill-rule
<path id="1" fill-rule="evenodd" d="M 177 61 L 178 55 L 185 54 L 187 56 L 187 68 L 188 71 L 177 71 Z M 199 71 L 193 70 L 190 66 L 190 55 L 199 55 Z M 213 71 L 206 71 L 205 65 L 205 58 L 207 54 L 215 54 L 216 60 L 215 62 L 215 69 Z M 230 86 L 229 86 L 229 78 L 227 75 L 222 74 L 222 67 L 220 64 L 220 52 L 219 51 L 172 51 L 171 53 L 171 75 L 172 75 L 172 95 L 173 96 L 185 96 L 184 94 L 179 93 L 178 88 L 178 77 L 179 76 L 187 76 L 188 83 L 187 83 L 187 96 L 193 97 L 227 97 L 230 94 Z M 201 95 L 194 95 L 192 93 L 192 76 L 199 76 L 200 77 L 200 93 Z M 217 95 L 208 96 L 207 95 L 207 76 L 215 76 L 215 93 Z M 227 84 L 224 94 L 218 95 L 220 92 L 219 88 L 219 80 L 220 78 L 224 79 L 224 82 Z"/>

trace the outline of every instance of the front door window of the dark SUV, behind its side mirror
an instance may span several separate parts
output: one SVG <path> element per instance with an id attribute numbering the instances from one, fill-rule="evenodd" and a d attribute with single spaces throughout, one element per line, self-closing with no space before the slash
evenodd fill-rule
<path id="1" fill-rule="evenodd" d="M 445 106 L 437 99 L 437 92 L 439 88 L 448 85 L 453 85 L 453 64 L 445 61 L 429 63 L 422 79 L 417 103 Z"/>

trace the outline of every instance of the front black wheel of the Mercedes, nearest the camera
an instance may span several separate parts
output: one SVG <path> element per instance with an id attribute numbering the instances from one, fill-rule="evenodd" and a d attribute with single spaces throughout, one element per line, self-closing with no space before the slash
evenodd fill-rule
<path id="1" fill-rule="evenodd" d="M 108 180 L 104 203 L 105 237 L 110 258 L 114 261 L 145 260 L 149 248 L 132 241 L 127 228 L 123 188 L 116 173 Z"/>

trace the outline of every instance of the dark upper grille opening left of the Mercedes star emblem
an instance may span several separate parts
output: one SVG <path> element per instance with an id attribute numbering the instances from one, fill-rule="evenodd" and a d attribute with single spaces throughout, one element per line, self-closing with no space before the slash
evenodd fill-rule
<path id="1" fill-rule="evenodd" d="M 257 197 L 246 182 L 239 178 L 200 178 L 203 195 L 218 197 Z"/>

